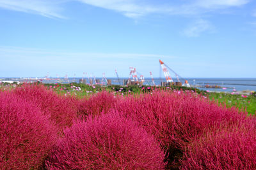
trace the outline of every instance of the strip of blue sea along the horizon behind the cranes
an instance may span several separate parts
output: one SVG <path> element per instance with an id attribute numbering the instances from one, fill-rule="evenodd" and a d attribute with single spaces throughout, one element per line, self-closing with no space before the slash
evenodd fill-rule
<path id="1" fill-rule="evenodd" d="M 113 85 L 125 85 L 125 81 L 128 78 L 106 78 L 111 80 Z M 36 81 L 41 80 L 42 83 L 71 83 L 84 80 L 86 83 L 89 82 L 88 78 L 74 77 L 74 78 L 50 78 L 45 80 L 44 78 L 0 78 L 0 81 Z M 106 80 L 102 78 L 92 78 L 91 81 L 106 84 Z M 180 80 L 182 84 L 184 80 L 188 80 L 191 87 L 195 87 L 200 90 L 209 90 L 212 92 L 232 92 L 236 91 L 256 91 L 256 78 L 183 78 Z M 166 81 L 165 78 L 154 78 L 155 85 L 161 85 L 161 82 Z M 173 81 L 178 81 L 173 78 Z M 144 85 L 154 85 L 152 78 L 145 78 Z"/>

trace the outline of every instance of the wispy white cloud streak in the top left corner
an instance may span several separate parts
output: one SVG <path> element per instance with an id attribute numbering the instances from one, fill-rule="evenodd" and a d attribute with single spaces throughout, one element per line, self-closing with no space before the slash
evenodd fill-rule
<path id="1" fill-rule="evenodd" d="M 34 13 L 49 18 L 65 18 L 60 14 L 63 1 L 48 0 L 0 0 L 0 8 Z"/>

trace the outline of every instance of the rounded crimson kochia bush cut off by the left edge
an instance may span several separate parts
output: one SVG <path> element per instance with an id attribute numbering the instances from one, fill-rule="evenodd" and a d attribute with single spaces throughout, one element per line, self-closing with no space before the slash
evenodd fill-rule
<path id="1" fill-rule="evenodd" d="M 37 169 L 56 143 L 56 129 L 34 104 L 0 92 L 0 169 Z"/>

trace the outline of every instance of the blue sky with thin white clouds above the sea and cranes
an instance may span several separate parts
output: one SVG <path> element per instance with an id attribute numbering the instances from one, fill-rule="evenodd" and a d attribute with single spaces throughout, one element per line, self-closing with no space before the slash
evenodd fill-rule
<path id="1" fill-rule="evenodd" d="M 253 0 L 0 0 L 0 77 L 255 78 Z M 171 76 L 174 76 L 171 74 Z"/>

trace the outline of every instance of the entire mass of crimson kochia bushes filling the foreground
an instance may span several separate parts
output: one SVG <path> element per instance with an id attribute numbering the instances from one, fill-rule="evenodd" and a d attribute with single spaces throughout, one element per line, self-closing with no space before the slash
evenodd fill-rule
<path id="1" fill-rule="evenodd" d="M 256 169 L 256 120 L 192 91 L 0 89 L 0 169 Z"/>

